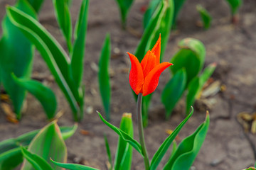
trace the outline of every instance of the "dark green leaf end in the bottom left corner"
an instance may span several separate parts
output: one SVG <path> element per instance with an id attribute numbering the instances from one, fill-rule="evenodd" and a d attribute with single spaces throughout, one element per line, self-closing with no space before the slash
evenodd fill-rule
<path id="1" fill-rule="evenodd" d="M 0 169 L 12 170 L 23 162 L 21 148 L 17 147 L 0 154 Z"/>

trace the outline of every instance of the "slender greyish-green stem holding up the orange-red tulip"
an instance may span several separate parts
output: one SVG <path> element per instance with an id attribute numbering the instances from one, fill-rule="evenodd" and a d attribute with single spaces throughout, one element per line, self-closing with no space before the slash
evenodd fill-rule
<path id="1" fill-rule="evenodd" d="M 146 152 L 143 124 L 142 124 L 142 93 L 139 93 L 138 99 L 137 99 L 137 118 L 138 118 L 139 142 L 142 145 L 142 154 L 144 154 L 145 170 L 149 170 L 149 156 Z"/>

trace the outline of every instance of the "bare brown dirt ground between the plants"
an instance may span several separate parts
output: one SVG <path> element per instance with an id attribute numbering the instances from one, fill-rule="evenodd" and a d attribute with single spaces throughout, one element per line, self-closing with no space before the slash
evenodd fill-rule
<path id="1" fill-rule="evenodd" d="M 110 140 L 110 148 L 114 157 L 117 145 L 117 135 L 100 121 L 95 111 L 101 111 L 102 103 L 97 85 L 97 62 L 100 49 L 106 33 L 111 34 L 113 57 L 110 63 L 112 71 L 112 108 L 111 121 L 119 125 L 122 113 L 135 113 L 136 103 L 129 89 L 128 73 L 129 57 L 126 52 L 134 52 L 142 34 L 143 13 L 140 8 L 148 1 L 136 0 L 128 16 L 128 30 L 122 30 L 119 23 L 119 11 L 114 0 L 90 1 L 87 42 L 85 53 L 85 71 L 83 84 L 85 94 L 85 119 L 79 124 L 75 135 L 66 141 L 69 162 L 83 162 L 98 169 L 107 169 L 107 154 L 105 151 L 104 134 Z M 14 4 L 14 0 L 0 0 L 0 20 L 4 17 L 5 5 Z M 202 4 L 213 16 L 209 30 L 196 26 L 200 16 L 196 5 Z M 72 19 L 78 16 L 80 1 L 73 1 Z M 256 160 L 256 135 L 245 133 L 237 115 L 242 111 L 255 112 L 256 108 L 256 1 L 245 0 L 240 8 L 240 22 L 230 24 L 230 8 L 225 0 L 190 0 L 184 5 L 178 17 L 177 30 L 171 33 L 166 47 L 164 61 L 169 61 L 178 50 L 177 43 L 183 38 L 191 37 L 201 40 L 206 45 L 206 65 L 217 62 L 218 67 L 213 79 L 219 80 L 226 90 L 219 92 L 209 100 L 214 101 L 210 109 L 210 128 L 206 141 L 193 164 L 193 169 L 244 169 L 252 166 Z M 65 47 L 58 24 L 55 21 L 53 5 L 46 0 L 40 13 L 40 21 Z M 181 20 L 182 18 L 182 20 Z M 0 35 L 1 35 L 0 28 Z M 65 47 L 66 50 L 66 47 Z M 33 75 L 39 73 L 43 77 L 51 77 L 46 64 L 38 53 L 34 60 Z M 151 101 L 149 126 L 145 129 L 146 146 L 149 157 L 153 157 L 161 142 L 168 136 L 166 129 L 174 129 L 184 118 L 183 102 L 181 101 L 170 120 L 164 120 L 164 106 L 160 94 L 164 84 L 169 80 L 170 73 L 166 70 L 160 77 L 159 87 Z M 59 125 L 73 125 L 73 118 L 68 103 L 54 82 L 47 82 L 58 97 L 58 110 L 65 111 L 59 120 Z M 28 94 L 26 109 L 17 125 L 9 123 L 3 111 L 0 110 L 0 141 L 9 137 L 17 137 L 31 130 L 46 125 L 46 116 L 40 103 Z M 192 118 L 181 130 L 181 139 L 190 135 L 200 125 L 206 113 L 206 108 L 196 110 Z M 134 116 L 135 117 L 135 116 Z M 138 139 L 137 126 L 134 119 L 135 138 Z M 81 135 L 80 130 L 87 130 L 89 135 Z M 169 153 L 171 149 L 169 150 Z M 169 157 L 169 156 L 168 156 Z M 161 162 L 162 169 L 166 159 Z M 142 157 L 134 151 L 132 169 L 143 169 Z"/>

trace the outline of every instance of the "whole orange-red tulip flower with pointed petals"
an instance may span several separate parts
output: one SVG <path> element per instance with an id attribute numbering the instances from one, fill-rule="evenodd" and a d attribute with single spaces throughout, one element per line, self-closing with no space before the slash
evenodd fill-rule
<path id="1" fill-rule="evenodd" d="M 135 94 L 142 93 L 143 96 L 153 93 L 159 84 L 159 77 L 164 69 L 173 65 L 170 62 L 160 64 L 161 36 L 156 44 L 146 52 L 141 63 L 137 57 L 127 52 L 132 63 L 129 73 L 129 84 Z"/>

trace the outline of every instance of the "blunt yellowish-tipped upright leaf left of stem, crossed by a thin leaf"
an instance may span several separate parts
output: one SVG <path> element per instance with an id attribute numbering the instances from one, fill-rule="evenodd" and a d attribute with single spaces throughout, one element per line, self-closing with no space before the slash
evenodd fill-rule
<path id="1" fill-rule="evenodd" d="M 120 130 L 133 137 L 132 113 L 124 113 L 120 123 Z M 114 169 L 130 170 L 132 166 L 132 146 L 119 137 L 117 152 L 114 159 Z"/>

